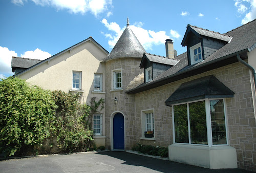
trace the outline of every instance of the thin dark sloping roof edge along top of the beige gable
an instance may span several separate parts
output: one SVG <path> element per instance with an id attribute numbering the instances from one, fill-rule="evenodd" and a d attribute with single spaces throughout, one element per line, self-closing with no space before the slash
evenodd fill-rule
<path id="1" fill-rule="evenodd" d="M 40 66 L 41 64 L 43 64 L 43 63 L 45 63 L 45 62 L 47 62 L 47 61 L 50 61 L 51 59 L 53 59 L 53 58 L 55 58 L 55 57 L 58 57 L 59 55 L 61 55 L 61 54 L 63 54 L 63 53 L 66 53 L 66 52 L 68 52 L 68 51 L 71 51 L 72 49 L 76 48 L 77 46 L 79 46 L 79 45 L 81 45 L 81 44 L 83 44 L 84 42 L 87 42 L 87 41 L 90 41 L 90 42 L 92 41 L 92 42 L 93 42 L 97 47 L 99 47 L 103 52 L 105 52 L 106 54 L 109 54 L 109 52 L 106 51 L 100 44 L 98 44 L 97 41 L 95 41 L 92 37 L 89 37 L 89 38 L 87 38 L 87 39 L 85 39 L 85 40 L 83 40 L 83 41 L 81 41 L 81 42 L 78 42 L 78 44 L 75 44 L 75 45 L 69 47 L 68 49 L 65 49 L 65 50 L 63 50 L 63 51 L 61 51 L 61 52 L 59 52 L 59 53 L 57 53 L 57 54 L 55 54 L 55 55 L 53 55 L 53 56 L 51 56 L 51 57 L 45 59 L 45 60 L 42 60 L 42 61 L 40 61 L 40 62 L 34 64 L 34 65 L 31 66 L 30 68 L 28 68 L 28 69 L 26 69 L 26 70 L 24 70 L 24 71 L 22 71 L 22 72 L 20 72 L 20 73 L 18 73 L 18 74 L 16 74 L 16 75 L 14 75 L 14 76 L 19 76 L 20 74 L 26 73 L 26 72 L 30 71 L 31 69 L 34 69 L 34 68 L 36 68 L 37 66 Z"/>

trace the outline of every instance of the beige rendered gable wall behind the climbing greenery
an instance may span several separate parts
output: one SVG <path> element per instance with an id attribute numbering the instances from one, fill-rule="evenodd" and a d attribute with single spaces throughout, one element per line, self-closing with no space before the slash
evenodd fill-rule
<path id="1" fill-rule="evenodd" d="M 61 90 L 67 93 L 72 90 L 73 71 L 82 72 L 81 90 L 83 91 L 83 102 L 90 105 L 92 97 L 96 101 L 105 98 L 105 66 L 100 61 L 107 56 L 93 41 L 87 41 L 73 48 L 71 51 L 63 53 L 49 63 L 40 66 L 20 75 L 20 78 L 26 79 L 34 85 L 43 89 Z M 93 92 L 94 90 L 94 73 L 103 74 L 103 92 Z M 105 116 L 104 109 L 99 112 L 102 116 L 102 136 L 97 136 L 96 143 L 104 144 L 105 135 Z M 100 139 L 100 137 L 102 139 Z M 98 145 L 98 144 L 97 144 Z M 99 145 L 99 146 L 100 146 Z"/>

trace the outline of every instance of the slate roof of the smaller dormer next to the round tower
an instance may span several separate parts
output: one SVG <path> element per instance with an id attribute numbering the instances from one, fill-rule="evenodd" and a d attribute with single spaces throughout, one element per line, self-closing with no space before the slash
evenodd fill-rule
<path id="1" fill-rule="evenodd" d="M 154 55 L 154 54 L 150 54 L 150 53 L 144 53 L 143 56 L 144 55 L 151 62 L 167 64 L 167 65 L 170 65 L 170 66 L 174 66 L 175 64 L 177 64 L 179 62 L 179 60 L 177 60 L 177 59 L 169 59 L 169 58 L 166 58 L 164 56 Z"/>

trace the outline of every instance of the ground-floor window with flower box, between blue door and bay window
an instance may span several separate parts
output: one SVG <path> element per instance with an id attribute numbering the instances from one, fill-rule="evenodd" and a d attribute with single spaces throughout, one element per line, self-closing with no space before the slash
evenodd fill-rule
<path id="1" fill-rule="evenodd" d="M 154 110 L 143 110 L 141 111 L 141 132 L 142 138 L 152 138 L 154 137 Z M 151 132 L 148 132 L 151 131 Z M 147 135 L 146 132 L 148 132 Z"/>

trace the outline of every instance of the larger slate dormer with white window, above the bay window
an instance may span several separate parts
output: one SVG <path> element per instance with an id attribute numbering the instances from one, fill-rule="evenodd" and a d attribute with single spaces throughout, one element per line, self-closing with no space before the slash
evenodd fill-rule
<path id="1" fill-rule="evenodd" d="M 226 34 L 187 25 L 181 45 L 187 46 L 188 66 L 206 59 L 228 44 L 231 39 L 232 37 Z"/>

